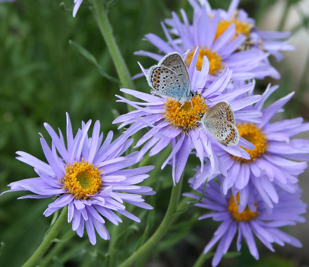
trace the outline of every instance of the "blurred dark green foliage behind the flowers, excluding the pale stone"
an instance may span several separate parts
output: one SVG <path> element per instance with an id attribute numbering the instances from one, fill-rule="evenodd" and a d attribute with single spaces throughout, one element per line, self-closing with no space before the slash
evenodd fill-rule
<path id="1" fill-rule="evenodd" d="M 145 67 L 156 62 L 146 57 L 134 56 L 133 52 L 143 49 L 157 52 L 150 43 L 142 41 L 144 34 L 153 32 L 163 37 L 160 21 L 171 16 L 175 10 L 179 13 L 184 8 L 188 17 L 192 15 L 192 8 L 186 0 L 181 1 L 112 1 L 109 6 L 110 23 L 114 30 L 116 42 L 129 67 L 132 75 L 140 72 L 137 61 Z M 214 8 L 227 8 L 229 0 L 210 1 Z M 260 18 L 260 14 L 273 1 L 243 1 L 242 5 L 249 15 Z M 74 47 L 72 40 L 83 46 L 102 66 L 104 71 L 117 79 L 111 57 L 108 54 L 104 40 L 99 33 L 87 1 L 78 10 L 76 18 L 72 17 L 73 1 L 66 0 L 60 7 L 60 1 L 45 0 L 17 0 L 12 3 L 0 3 L 0 191 L 8 189 L 8 183 L 34 177 L 31 166 L 15 159 L 15 151 L 25 151 L 44 160 L 40 146 L 39 132 L 50 142 L 43 127 L 48 122 L 54 129 L 58 127 L 65 133 L 65 112 L 69 112 L 73 131 L 81 127 L 81 121 L 100 120 L 101 130 L 107 134 L 109 130 L 117 133 L 116 125 L 112 125 L 115 117 L 111 111 L 118 110 L 120 114 L 126 112 L 126 106 L 115 102 L 115 94 L 120 94 L 118 84 L 100 75 L 94 61 L 90 62 Z M 101 71 L 102 74 L 102 71 Z M 149 92 L 146 79 L 134 81 L 136 88 Z M 288 84 L 289 80 L 283 80 Z M 265 84 L 260 83 L 262 88 Z M 287 86 L 286 86 L 287 87 Z M 265 88 L 265 87 L 263 87 Z M 281 92 L 283 96 L 285 92 Z M 149 164 L 160 160 L 158 157 L 149 159 Z M 196 159 L 188 162 L 185 180 L 193 174 Z M 155 210 L 148 215 L 146 211 L 134 209 L 143 222 L 141 224 L 124 220 L 128 226 L 118 243 L 123 243 L 119 250 L 119 259 L 128 257 L 133 252 L 145 227 L 146 234 L 151 233 L 162 219 L 171 188 L 171 171 L 167 170 L 159 176 L 152 177 L 158 181 L 156 202 L 148 197 Z M 145 181 L 146 182 L 146 181 Z M 189 191 L 185 184 L 184 191 Z M 0 198 L 0 241 L 4 242 L 1 266 L 20 266 L 34 252 L 40 244 L 44 232 L 48 229 L 52 218 L 45 218 L 43 211 L 52 199 L 23 199 L 16 198 L 28 194 L 27 192 L 13 192 Z M 198 227 L 188 224 L 188 218 L 196 220 L 199 214 L 196 208 L 187 211 L 186 218 L 180 217 L 178 224 L 181 232 L 176 232 L 177 225 L 164 238 L 163 242 L 152 253 L 156 253 L 167 262 L 166 266 L 191 266 L 198 254 L 209 240 L 213 229 L 218 224 L 211 220 L 203 220 Z M 190 216 L 188 216 L 190 214 Z M 52 217 L 52 216 L 51 216 Z M 148 218 L 148 219 L 147 219 Z M 107 223 L 107 228 L 112 225 Z M 63 230 L 63 238 L 70 232 L 70 224 Z M 179 229 L 178 229 L 179 230 Z M 182 240 L 183 245 L 171 247 L 175 240 Z M 98 238 L 95 246 L 87 240 L 85 232 L 83 238 L 74 234 L 66 243 L 57 243 L 52 249 L 52 261 L 45 259 L 40 266 L 103 266 L 108 241 Z M 130 244 L 127 246 L 127 244 Z M 245 247 L 245 246 L 244 246 Z M 184 252 L 187 249 L 187 252 Z M 188 252 L 189 251 L 189 252 Z M 182 255 L 183 254 L 183 255 Z M 247 253 L 248 254 L 248 253 Z M 179 257 L 183 257 L 182 260 Z M 238 266 L 246 265 L 245 255 L 239 257 Z M 278 256 L 274 261 L 284 264 L 280 266 L 294 266 Z M 176 262 L 171 263 L 171 259 Z M 182 261 L 182 265 L 180 262 Z M 275 266 L 252 263 L 252 266 Z M 233 260 L 236 262 L 236 260 Z M 253 262 L 253 261 L 252 261 Z M 143 266 L 143 259 L 138 266 Z M 176 265 L 178 264 L 178 265 Z M 224 265 L 226 264 L 226 265 Z M 223 260 L 220 266 L 230 266 Z M 277 266 L 277 265 L 276 265 Z"/>

